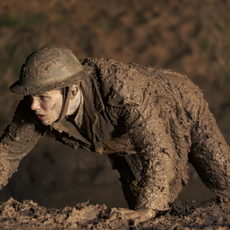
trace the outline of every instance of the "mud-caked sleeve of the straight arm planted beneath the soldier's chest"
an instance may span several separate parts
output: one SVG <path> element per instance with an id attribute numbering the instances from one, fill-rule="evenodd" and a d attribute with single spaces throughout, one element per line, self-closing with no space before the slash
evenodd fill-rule
<path id="1" fill-rule="evenodd" d="M 167 210 L 176 150 L 165 123 L 151 106 L 126 108 L 124 122 L 143 167 L 135 209 Z"/>

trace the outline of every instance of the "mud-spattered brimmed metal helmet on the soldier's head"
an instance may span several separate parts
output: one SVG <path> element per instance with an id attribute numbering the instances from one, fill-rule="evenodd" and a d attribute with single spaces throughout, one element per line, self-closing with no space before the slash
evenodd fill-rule
<path id="1" fill-rule="evenodd" d="M 27 57 L 20 78 L 10 90 L 22 95 L 36 95 L 77 84 L 92 72 L 81 65 L 72 51 L 59 46 L 39 49 Z"/>

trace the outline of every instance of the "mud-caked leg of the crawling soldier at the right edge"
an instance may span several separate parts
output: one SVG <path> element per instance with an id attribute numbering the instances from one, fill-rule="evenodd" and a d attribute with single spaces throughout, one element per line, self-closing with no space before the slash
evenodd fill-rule
<path id="1" fill-rule="evenodd" d="M 230 149 L 203 98 L 191 137 L 190 162 L 207 187 L 230 198 Z"/>

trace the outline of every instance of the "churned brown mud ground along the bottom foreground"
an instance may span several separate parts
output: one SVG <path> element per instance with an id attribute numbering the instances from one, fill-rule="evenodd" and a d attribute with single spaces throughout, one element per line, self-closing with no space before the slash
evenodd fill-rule
<path id="1" fill-rule="evenodd" d="M 216 197 L 204 202 L 177 201 L 167 212 L 146 222 L 129 219 L 117 208 L 79 203 L 63 209 L 44 208 L 31 200 L 10 198 L 0 205 L 1 229 L 229 229 L 230 201 Z"/>

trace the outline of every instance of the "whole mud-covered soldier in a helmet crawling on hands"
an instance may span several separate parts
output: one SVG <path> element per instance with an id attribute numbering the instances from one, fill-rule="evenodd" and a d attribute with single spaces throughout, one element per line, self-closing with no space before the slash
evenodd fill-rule
<path id="1" fill-rule="evenodd" d="M 188 161 L 207 187 L 230 197 L 229 146 L 186 76 L 109 59 L 79 61 L 51 46 L 26 59 L 10 90 L 24 98 L 1 137 L 1 188 L 46 135 L 108 156 L 141 218 L 170 208 L 187 184 Z"/>

